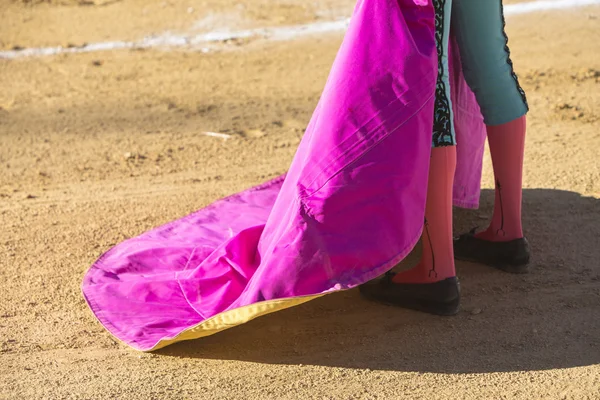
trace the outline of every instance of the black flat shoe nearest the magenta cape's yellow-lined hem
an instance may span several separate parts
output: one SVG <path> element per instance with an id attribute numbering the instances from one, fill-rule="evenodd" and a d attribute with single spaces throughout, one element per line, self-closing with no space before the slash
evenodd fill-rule
<path id="1" fill-rule="evenodd" d="M 382 303 L 435 315 L 455 315 L 460 306 L 460 286 L 456 277 L 435 283 L 394 283 L 393 272 L 360 286 L 360 293 Z"/>

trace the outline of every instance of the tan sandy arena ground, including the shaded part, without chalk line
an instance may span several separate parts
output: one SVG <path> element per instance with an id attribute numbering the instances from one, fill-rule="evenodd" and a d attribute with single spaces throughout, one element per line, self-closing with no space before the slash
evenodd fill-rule
<path id="1" fill-rule="evenodd" d="M 0 48 L 212 28 L 212 13 L 252 27 L 351 8 L 0 0 Z M 0 398 L 600 398 L 600 7 L 514 16 L 508 33 L 531 106 L 530 274 L 459 263 L 453 318 L 352 290 L 152 354 L 94 319 L 84 272 L 126 238 L 283 173 L 341 33 L 0 60 Z M 485 225 L 492 183 L 486 156 L 482 207 L 457 211 L 457 232 Z"/>

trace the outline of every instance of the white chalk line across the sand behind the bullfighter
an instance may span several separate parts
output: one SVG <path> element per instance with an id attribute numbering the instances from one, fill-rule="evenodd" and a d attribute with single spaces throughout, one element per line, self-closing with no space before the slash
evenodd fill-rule
<path id="1" fill-rule="evenodd" d="M 508 4 L 504 7 L 505 15 L 519 15 L 536 11 L 557 10 L 573 7 L 583 7 L 600 4 L 600 0 L 537 0 L 528 3 Z M 22 57 L 39 57 L 69 53 L 90 53 L 95 51 L 120 49 L 148 49 L 191 47 L 200 48 L 202 52 L 210 51 L 207 46 L 211 43 L 226 40 L 263 38 L 272 41 L 291 40 L 302 36 L 319 33 L 334 33 L 344 31 L 350 18 L 336 21 L 315 22 L 304 25 L 281 26 L 273 28 L 257 28 L 239 31 L 213 31 L 195 35 L 177 35 L 166 32 L 161 35 L 148 36 L 139 41 L 112 41 L 90 43 L 81 47 L 38 47 L 21 50 L 0 51 L 0 59 L 16 59 Z"/>

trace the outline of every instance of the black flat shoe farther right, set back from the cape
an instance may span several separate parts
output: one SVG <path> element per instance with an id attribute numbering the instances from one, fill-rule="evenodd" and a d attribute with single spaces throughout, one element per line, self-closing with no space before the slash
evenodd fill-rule
<path id="1" fill-rule="evenodd" d="M 529 269 L 529 243 L 520 238 L 491 242 L 475 237 L 475 229 L 454 240 L 454 258 L 489 265 L 505 272 L 524 274 Z"/>

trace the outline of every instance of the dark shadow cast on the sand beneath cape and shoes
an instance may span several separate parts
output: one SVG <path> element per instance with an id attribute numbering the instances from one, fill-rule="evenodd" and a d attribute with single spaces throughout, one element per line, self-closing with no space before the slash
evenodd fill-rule
<path id="1" fill-rule="evenodd" d="M 492 201 L 493 192 L 486 190 L 479 210 L 456 210 L 456 232 L 485 225 Z M 524 224 L 531 272 L 510 275 L 459 263 L 463 298 L 455 317 L 371 303 L 355 289 L 157 354 L 441 373 L 600 363 L 600 200 L 525 190 Z"/>

